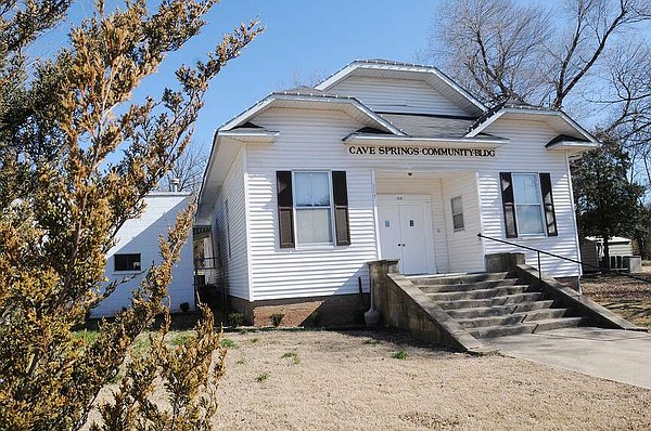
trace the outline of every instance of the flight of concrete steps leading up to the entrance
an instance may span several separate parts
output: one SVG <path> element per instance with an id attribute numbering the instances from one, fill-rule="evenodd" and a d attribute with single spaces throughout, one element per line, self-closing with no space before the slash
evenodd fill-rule
<path id="1" fill-rule="evenodd" d="M 475 338 L 574 327 L 586 323 L 573 310 L 554 308 L 536 285 L 508 273 L 413 277 L 417 286 Z"/>

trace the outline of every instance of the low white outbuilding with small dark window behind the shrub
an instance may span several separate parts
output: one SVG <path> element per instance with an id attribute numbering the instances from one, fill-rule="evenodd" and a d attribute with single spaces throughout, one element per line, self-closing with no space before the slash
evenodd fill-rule
<path id="1" fill-rule="evenodd" d="M 127 220 L 116 235 L 116 245 L 107 253 L 106 277 L 108 280 L 130 278 L 91 313 L 92 317 L 113 316 L 129 306 L 131 291 L 138 288 L 146 270 L 153 262 L 161 262 L 159 235 L 167 235 L 177 213 L 188 208 L 190 193 L 151 192 L 144 198 L 146 208 L 138 219 Z M 178 312 L 180 304 L 188 302 L 195 309 L 192 264 L 192 240 L 188 238 L 180 259 L 173 270 L 168 287 L 171 311 Z"/>

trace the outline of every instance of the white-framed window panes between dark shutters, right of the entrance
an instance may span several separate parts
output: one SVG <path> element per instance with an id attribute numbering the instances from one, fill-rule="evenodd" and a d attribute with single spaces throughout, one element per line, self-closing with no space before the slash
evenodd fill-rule
<path id="1" fill-rule="evenodd" d="M 542 204 L 538 175 L 513 173 L 513 201 L 520 235 L 544 235 Z"/>

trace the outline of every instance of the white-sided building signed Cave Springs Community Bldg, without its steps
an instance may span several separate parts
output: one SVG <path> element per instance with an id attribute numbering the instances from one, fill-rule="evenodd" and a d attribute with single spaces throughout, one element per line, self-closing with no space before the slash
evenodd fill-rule
<path id="1" fill-rule="evenodd" d="M 216 132 L 196 221 L 250 321 L 350 315 L 369 261 L 481 272 L 486 254 L 524 251 L 535 264 L 535 252 L 477 233 L 578 259 L 569 157 L 598 145 L 562 112 L 489 109 L 435 67 L 356 61 Z M 541 263 L 554 277 L 580 274 Z"/>

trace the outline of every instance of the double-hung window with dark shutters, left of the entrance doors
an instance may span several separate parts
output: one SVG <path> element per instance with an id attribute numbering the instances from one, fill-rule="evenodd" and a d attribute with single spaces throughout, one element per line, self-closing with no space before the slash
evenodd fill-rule
<path id="1" fill-rule="evenodd" d="M 345 171 L 277 171 L 280 248 L 350 245 Z"/>

